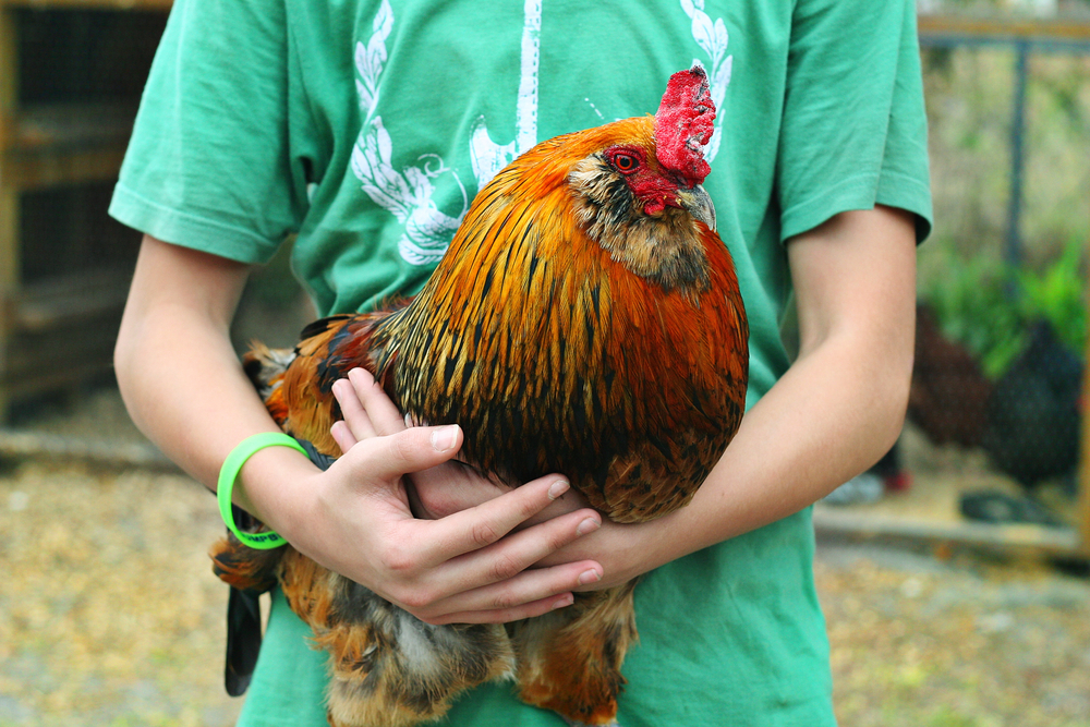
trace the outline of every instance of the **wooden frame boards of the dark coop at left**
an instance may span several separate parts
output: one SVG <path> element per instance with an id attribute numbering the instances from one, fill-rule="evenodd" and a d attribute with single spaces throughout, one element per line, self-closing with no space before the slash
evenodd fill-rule
<path id="1" fill-rule="evenodd" d="M 72 389 L 108 371 L 130 269 L 81 270 L 29 281 L 22 201 L 28 193 L 116 180 L 136 101 L 24 106 L 23 11 L 162 11 L 170 0 L 0 0 L 0 421 L 15 399 Z M 34 344 L 27 344 L 33 341 Z M 48 342 L 48 346 L 43 343 Z"/>

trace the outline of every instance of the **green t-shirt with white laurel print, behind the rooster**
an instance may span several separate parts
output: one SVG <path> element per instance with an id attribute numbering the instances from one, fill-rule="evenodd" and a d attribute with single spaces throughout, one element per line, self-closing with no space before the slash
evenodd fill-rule
<path id="1" fill-rule="evenodd" d="M 537 141 L 658 107 L 693 60 L 705 189 L 751 329 L 749 404 L 788 366 L 783 241 L 875 203 L 930 229 L 915 9 L 873 0 L 178 0 L 111 214 L 246 263 L 298 234 L 323 314 L 415 292 L 484 181 Z M 647 574 L 623 727 L 834 724 L 809 510 Z M 274 601 L 242 725 L 325 725 L 324 654 Z M 560 727 L 508 684 L 440 723 Z"/>

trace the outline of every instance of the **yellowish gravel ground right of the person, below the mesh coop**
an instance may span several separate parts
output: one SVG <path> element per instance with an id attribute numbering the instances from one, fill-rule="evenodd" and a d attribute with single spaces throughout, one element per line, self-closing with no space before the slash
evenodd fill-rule
<path id="1" fill-rule="evenodd" d="M 1033 560 L 821 543 L 845 727 L 1090 726 L 1090 584 Z"/>

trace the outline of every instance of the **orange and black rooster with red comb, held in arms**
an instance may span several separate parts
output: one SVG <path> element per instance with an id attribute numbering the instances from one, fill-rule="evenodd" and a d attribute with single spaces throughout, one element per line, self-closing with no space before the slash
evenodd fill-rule
<path id="1" fill-rule="evenodd" d="M 737 431 L 748 378 L 738 280 L 701 186 L 714 118 L 698 65 L 670 77 L 655 117 L 526 152 L 477 194 L 414 299 L 247 354 L 268 410 L 336 457 L 331 386 L 362 366 L 414 421 L 460 424 L 461 458 L 506 483 L 561 472 L 623 523 L 682 507 Z M 507 626 L 432 626 L 290 545 L 231 538 L 213 557 L 235 587 L 279 582 L 314 630 L 335 727 L 409 727 L 510 677 L 571 724 L 615 720 L 634 581 Z"/>

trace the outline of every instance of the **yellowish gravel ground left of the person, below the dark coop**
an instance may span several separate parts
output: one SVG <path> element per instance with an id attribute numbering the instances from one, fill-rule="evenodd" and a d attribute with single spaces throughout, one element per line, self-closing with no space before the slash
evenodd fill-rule
<path id="1" fill-rule="evenodd" d="M 0 725 L 230 725 L 215 500 L 174 474 L 0 476 Z"/>

